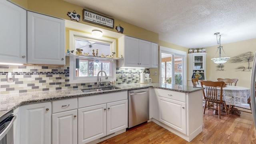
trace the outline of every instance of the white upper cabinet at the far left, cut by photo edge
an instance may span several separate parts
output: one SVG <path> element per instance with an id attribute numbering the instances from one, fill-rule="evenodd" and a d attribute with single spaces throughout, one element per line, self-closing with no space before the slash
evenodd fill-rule
<path id="1" fill-rule="evenodd" d="M 6 0 L 0 1 L 0 62 L 27 62 L 26 10 Z"/>

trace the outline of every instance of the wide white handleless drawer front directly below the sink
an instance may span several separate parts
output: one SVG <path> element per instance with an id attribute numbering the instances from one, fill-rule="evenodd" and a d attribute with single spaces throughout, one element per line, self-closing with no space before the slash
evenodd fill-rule
<path id="1" fill-rule="evenodd" d="M 108 102 L 115 102 L 119 100 L 127 100 L 128 92 L 112 92 L 108 94 L 99 94 L 93 96 L 84 96 L 78 98 L 78 108 L 84 108 L 87 106 L 95 106 L 98 104 L 105 104 Z"/>

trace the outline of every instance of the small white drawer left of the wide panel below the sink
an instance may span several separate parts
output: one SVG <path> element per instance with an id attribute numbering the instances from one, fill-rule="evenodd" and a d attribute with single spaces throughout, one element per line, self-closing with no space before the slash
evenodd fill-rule
<path id="1" fill-rule="evenodd" d="M 52 102 L 52 113 L 74 110 L 77 109 L 77 105 L 77 98 L 55 100 Z"/>

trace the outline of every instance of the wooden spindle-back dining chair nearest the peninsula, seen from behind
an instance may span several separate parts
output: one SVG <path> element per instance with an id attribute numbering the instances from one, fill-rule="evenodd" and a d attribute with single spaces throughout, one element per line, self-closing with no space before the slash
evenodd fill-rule
<path id="1" fill-rule="evenodd" d="M 224 108 L 226 111 L 226 114 L 228 114 L 228 108 L 226 105 L 226 102 L 222 100 L 222 87 L 225 84 L 223 81 L 219 82 L 212 82 L 212 81 L 200 81 L 201 86 L 205 88 L 203 90 L 203 96 L 204 100 L 206 101 L 204 105 L 204 113 L 205 109 L 213 108 L 214 110 L 218 110 L 218 116 L 220 118 L 220 112 L 221 112 L 221 106 L 224 104 Z M 220 92 L 218 92 L 217 87 L 220 87 Z M 220 98 L 218 99 L 218 94 L 220 94 Z M 209 104 L 211 103 L 211 104 Z M 212 104 L 216 104 L 217 108 L 214 108 Z"/>

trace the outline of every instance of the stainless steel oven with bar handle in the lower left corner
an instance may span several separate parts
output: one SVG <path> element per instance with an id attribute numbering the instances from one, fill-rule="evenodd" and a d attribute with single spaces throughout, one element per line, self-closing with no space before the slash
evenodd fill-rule
<path id="1" fill-rule="evenodd" d="M 0 144 L 13 144 L 13 110 L 6 112 L 0 117 Z"/>

